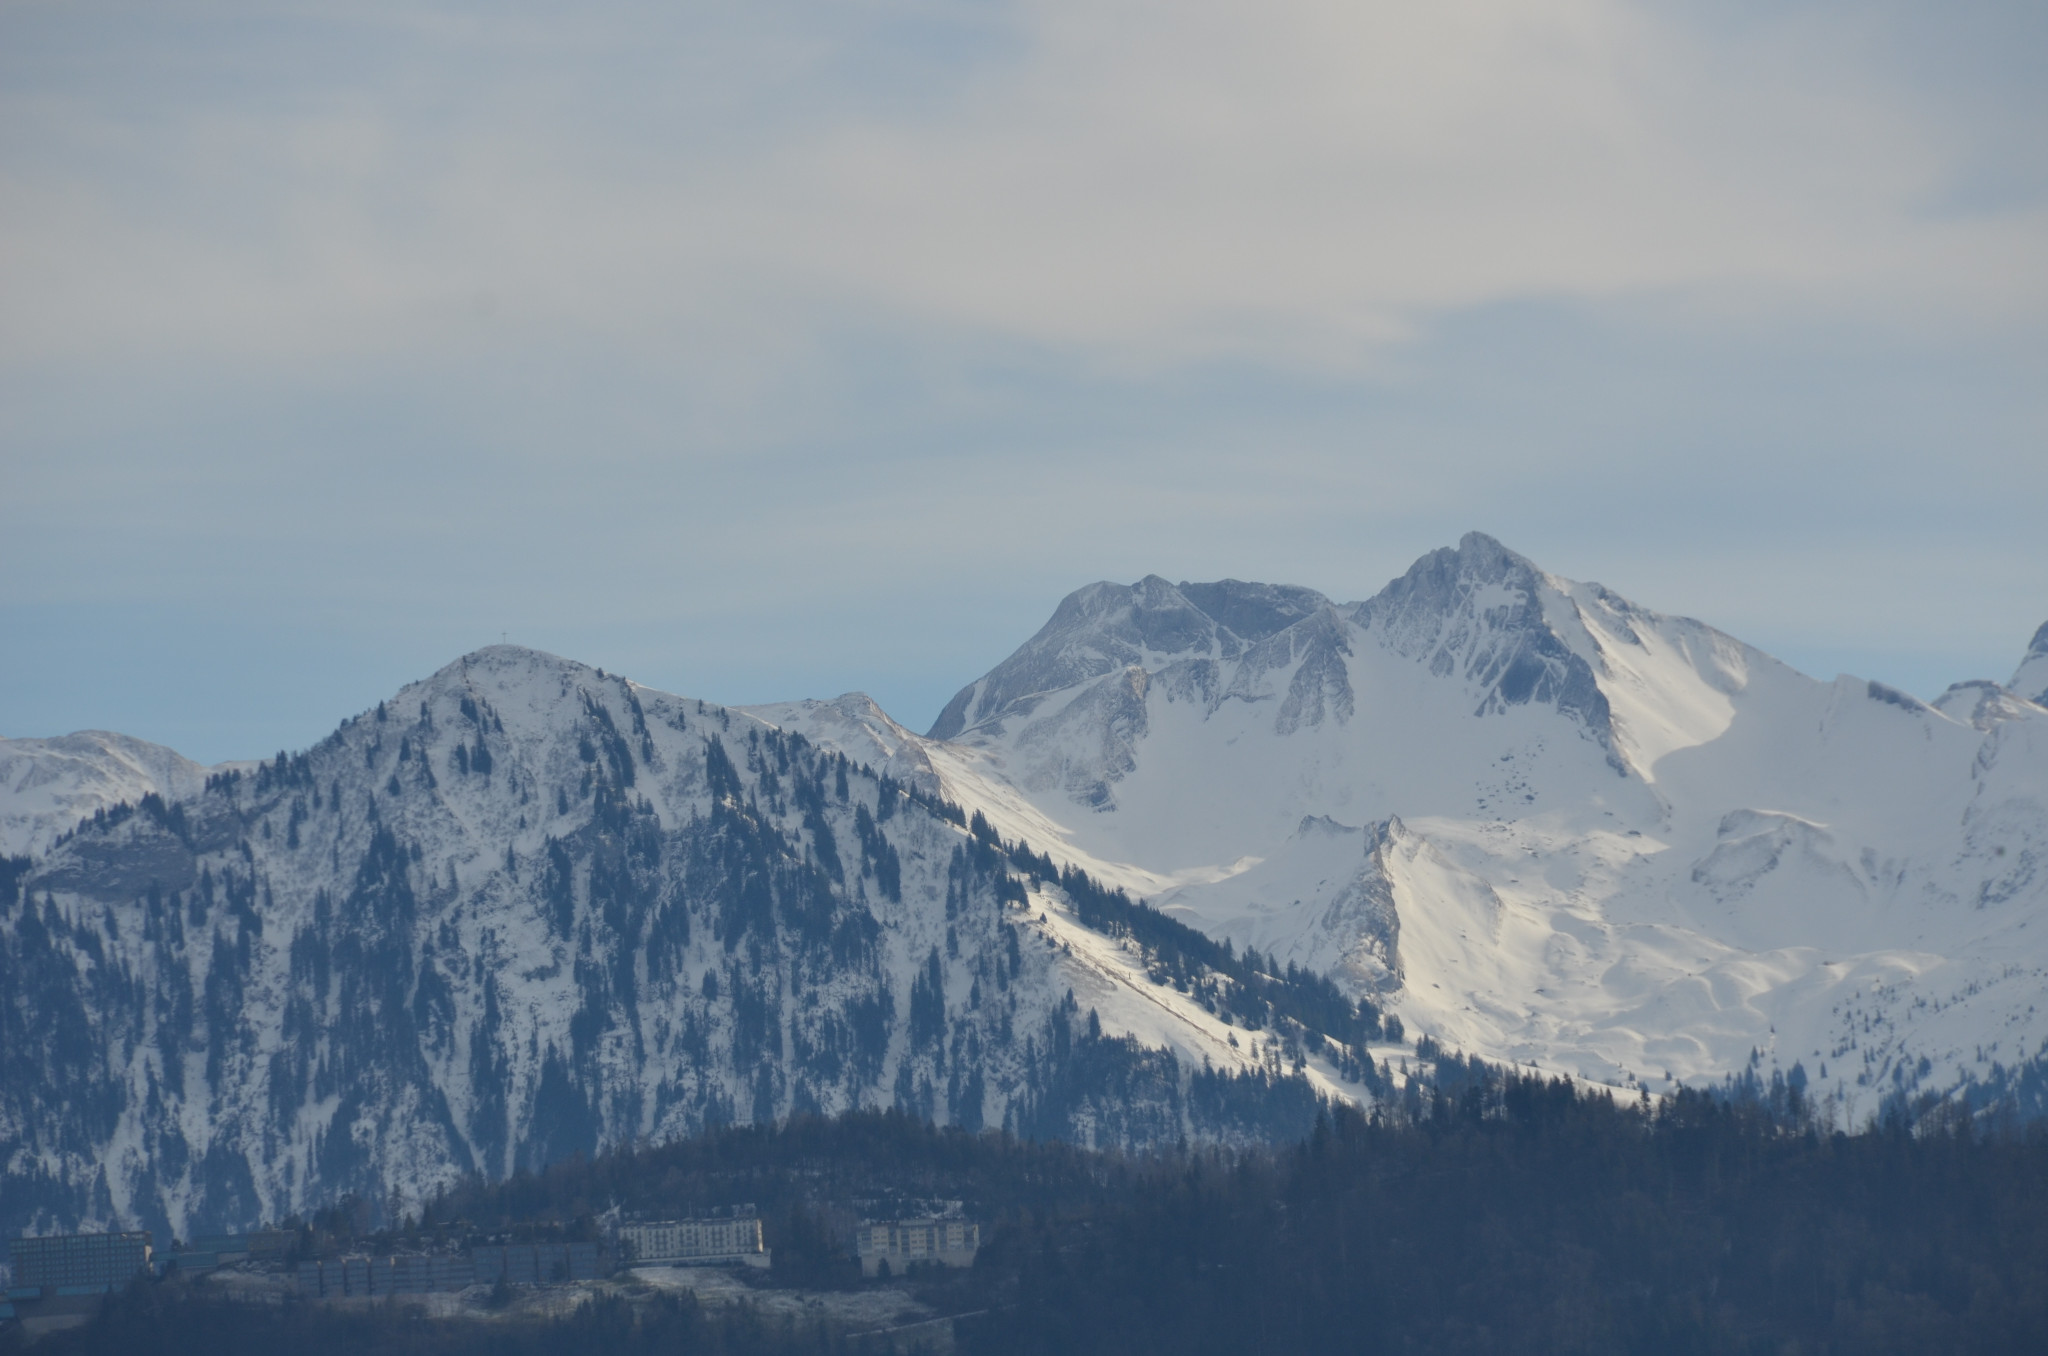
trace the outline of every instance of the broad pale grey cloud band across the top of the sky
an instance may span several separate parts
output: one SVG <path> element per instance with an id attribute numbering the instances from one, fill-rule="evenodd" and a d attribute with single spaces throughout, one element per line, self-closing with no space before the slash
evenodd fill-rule
<path id="1" fill-rule="evenodd" d="M 393 352 L 481 320 L 778 363 L 872 313 L 1110 365 L 1343 367 L 1522 297 L 1993 320 L 2044 297 L 2048 217 L 1929 211 L 1958 147 L 1796 25 L 1708 39 L 1614 0 L 997 12 L 965 76 L 895 57 L 895 100 L 836 57 L 918 8 L 795 6 L 780 41 L 616 12 L 356 25 L 299 53 L 283 107 L 39 90 L 0 209 L 4 356 Z"/>

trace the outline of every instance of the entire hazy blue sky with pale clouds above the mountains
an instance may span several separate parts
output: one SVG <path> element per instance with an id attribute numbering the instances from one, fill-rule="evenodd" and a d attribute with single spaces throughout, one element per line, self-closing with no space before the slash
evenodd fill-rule
<path id="1" fill-rule="evenodd" d="M 0 4 L 0 733 L 510 639 L 926 727 L 1466 531 L 1831 678 L 2048 621 L 2048 6 Z"/>

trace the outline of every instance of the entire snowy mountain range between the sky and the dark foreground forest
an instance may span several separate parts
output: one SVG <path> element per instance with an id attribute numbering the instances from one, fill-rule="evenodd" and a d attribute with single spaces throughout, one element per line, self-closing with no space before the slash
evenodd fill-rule
<path id="1" fill-rule="evenodd" d="M 926 735 L 500 645 L 274 760 L 6 739 L 0 836 L 0 1225 L 862 1104 L 1284 1135 L 1403 1028 L 2048 1110 L 2048 627 L 1921 703 L 1477 533 L 1364 602 L 1092 584 Z"/>

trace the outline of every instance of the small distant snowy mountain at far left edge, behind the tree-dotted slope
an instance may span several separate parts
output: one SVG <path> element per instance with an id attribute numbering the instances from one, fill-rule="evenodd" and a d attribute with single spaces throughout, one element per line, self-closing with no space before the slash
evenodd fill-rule
<path id="1" fill-rule="evenodd" d="M 0 739 L 0 856 L 47 852 L 94 811 L 145 795 L 197 795 L 207 768 L 162 744 L 104 729 Z"/>

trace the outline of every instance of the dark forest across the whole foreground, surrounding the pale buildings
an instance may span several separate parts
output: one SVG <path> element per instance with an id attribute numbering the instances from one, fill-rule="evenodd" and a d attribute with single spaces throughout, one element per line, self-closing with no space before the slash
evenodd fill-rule
<path id="1" fill-rule="evenodd" d="M 956 1198 L 977 1264 L 862 1282 L 848 1202 Z M 1825 1133 L 1688 1092 L 1616 1104 L 1473 1067 L 1391 1116 L 1325 1114 L 1255 1151 L 1108 1155 L 895 1112 L 731 1127 L 467 1184 L 406 1221 L 590 1235 L 600 1213 L 756 1202 L 764 1286 L 909 1286 L 952 1350 L 2040 1352 L 2048 1137 L 1956 1118 Z M 401 1239 L 379 1239 L 393 1243 Z M 535 1321 L 231 1305 L 137 1284 L 37 1350 L 887 1352 L 934 1344 L 688 1297 Z M 930 1350 L 942 1350 L 944 1344 Z"/>

